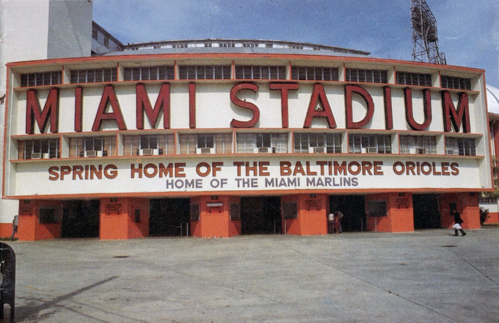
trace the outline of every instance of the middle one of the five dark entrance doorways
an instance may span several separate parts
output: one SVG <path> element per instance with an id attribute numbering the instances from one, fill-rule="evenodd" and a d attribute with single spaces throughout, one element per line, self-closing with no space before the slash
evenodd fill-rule
<path id="1" fill-rule="evenodd" d="M 280 219 L 280 197 L 241 197 L 241 234 L 274 233 L 274 221 Z"/>

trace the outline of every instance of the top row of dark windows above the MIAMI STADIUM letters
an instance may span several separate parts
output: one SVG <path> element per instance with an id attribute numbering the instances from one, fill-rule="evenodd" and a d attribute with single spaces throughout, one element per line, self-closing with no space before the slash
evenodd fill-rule
<path id="1" fill-rule="evenodd" d="M 286 66 L 236 65 L 236 79 L 284 80 Z M 71 70 L 71 83 L 112 82 L 117 80 L 116 68 Z M 180 65 L 181 80 L 231 79 L 231 65 Z M 125 81 L 153 81 L 175 79 L 175 68 L 170 65 L 125 67 Z M 292 80 L 338 81 L 336 67 L 291 66 Z M 346 82 L 388 83 L 388 72 L 375 69 L 345 69 Z M 62 83 L 62 73 L 42 72 L 21 74 L 21 87 Z M 404 85 L 432 86 L 431 74 L 396 72 L 396 83 Z M 441 76 L 443 88 L 471 90 L 471 79 Z"/>

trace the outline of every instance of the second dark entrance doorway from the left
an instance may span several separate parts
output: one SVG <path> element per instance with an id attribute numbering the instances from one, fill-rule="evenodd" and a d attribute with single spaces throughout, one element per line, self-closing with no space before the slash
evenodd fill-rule
<path id="1" fill-rule="evenodd" d="M 149 236 L 180 236 L 180 225 L 189 222 L 189 198 L 155 198 L 150 200 Z"/>

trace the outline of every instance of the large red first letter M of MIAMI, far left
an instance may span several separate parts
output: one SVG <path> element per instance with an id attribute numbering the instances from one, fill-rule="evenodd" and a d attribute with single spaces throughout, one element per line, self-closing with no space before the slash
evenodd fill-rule
<path id="1" fill-rule="evenodd" d="M 26 93 L 26 134 L 33 134 L 33 118 L 36 119 L 38 129 L 40 129 L 40 133 L 43 134 L 47 127 L 49 114 L 50 132 L 57 133 L 59 119 L 59 89 L 51 89 L 50 92 L 48 92 L 43 111 L 40 109 L 40 102 L 38 101 L 36 92 L 34 90 L 28 90 Z"/>

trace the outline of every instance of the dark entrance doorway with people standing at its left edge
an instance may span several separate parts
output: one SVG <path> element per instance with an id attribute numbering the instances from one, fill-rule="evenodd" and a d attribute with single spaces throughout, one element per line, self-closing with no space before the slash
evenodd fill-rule
<path id="1" fill-rule="evenodd" d="M 343 232 L 367 230 L 365 203 L 364 195 L 331 195 L 329 211 L 343 213 L 341 219 Z"/>

